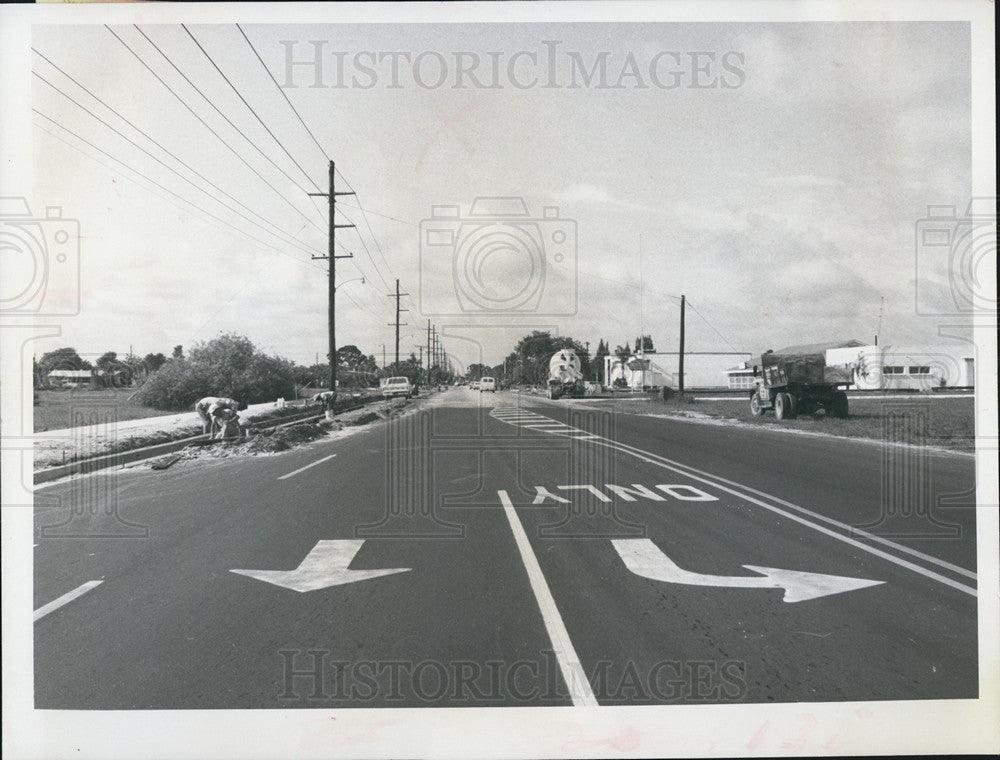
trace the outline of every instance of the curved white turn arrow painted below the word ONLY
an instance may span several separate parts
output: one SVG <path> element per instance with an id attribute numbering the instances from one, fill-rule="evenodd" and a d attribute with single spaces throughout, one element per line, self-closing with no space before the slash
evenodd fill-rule
<path id="1" fill-rule="evenodd" d="M 727 586 L 731 588 L 783 588 L 785 602 L 803 602 L 844 591 L 855 591 L 868 586 L 878 586 L 885 581 L 866 578 L 845 578 L 840 575 L 803 573 L 798 570 L 779 570 L 774 567 L 743 565 L 757 576 L 702 575 L 678 567 L 670 557 L 648 538 L 623 538 L 611 541 L 621 556 L 625 567 L 636 575 L 665 583 L 683 583 L 688 586 Z"/>

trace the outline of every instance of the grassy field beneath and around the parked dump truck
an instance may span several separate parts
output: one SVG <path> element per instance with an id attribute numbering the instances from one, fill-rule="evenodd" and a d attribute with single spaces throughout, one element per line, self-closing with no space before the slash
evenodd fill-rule
<path id="1" fill-rule="evenodd" d="M 914 394 L 894 398 L 852 398 L 847 419 L 827 418 L 822 414 L 781 421 L 776 420 L 773 413 L 754 417 L 750 404 L 742 397 L 732 401 L 622 399 L 604 402 L 599 408 L 632 414 L 709 417 L 772 429 L 940 446 L 957 451 L 975 450 L 975 401 L 972 396 L 937 398 Z"/>

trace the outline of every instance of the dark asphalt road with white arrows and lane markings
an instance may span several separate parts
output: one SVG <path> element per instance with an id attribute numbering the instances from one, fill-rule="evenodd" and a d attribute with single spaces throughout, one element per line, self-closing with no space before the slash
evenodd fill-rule
<path id="1" fill-rule="evenodd" d="M 977 696 L 971 457 L 419 406 L 38 489 L 36 707 Z"/>

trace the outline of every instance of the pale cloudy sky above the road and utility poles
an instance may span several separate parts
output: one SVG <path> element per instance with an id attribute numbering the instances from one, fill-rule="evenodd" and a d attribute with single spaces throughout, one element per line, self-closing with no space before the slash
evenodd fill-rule
<path id="1" fill-rule="evenodd" d="M 883 344 L 946 340 L 948 267 L 916 231 L 971 192 L 964 22 L 38 25 L 32 43 L 31 213 L 61 206 L 80 235 L 78 313 L 38 354 L 238 333 L 323 361 L 309 193 L 330 159 L 356 193 L 337 197 L 356 225 L 336 230 L 337 344 L 379 361 L 397 278 L 401 354 L 430 319 L 459 368 L 534 329 L 676 350 L 681 294 L 688 351 L 870 342 L 880 310 Z M 477 198 L 524 211 L 473 216 Z M 53 309 L 73 311 L 74 266 Z"/>

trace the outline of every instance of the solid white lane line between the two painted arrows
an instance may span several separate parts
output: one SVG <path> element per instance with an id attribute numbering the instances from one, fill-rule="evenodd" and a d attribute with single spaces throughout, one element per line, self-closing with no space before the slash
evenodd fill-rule
<path id="1" fill-rule="evenodd" d="M 548 631 L 549 640 L 552 642 L 552 650 L 559 662 L 559 670 L 562 671 L 563 680 L 569 687 L 573 706 L 597 707 L 597 697 L 594 696 L 594 691 L 590 688 L 590 681 L 587 680 L 587 674 L 573 648 L 573 642 L 569 639 L 566 625 L 559 615 L 555 599 L 552 598 L 552 592 L 549 590 L 549 584 L 546 583 L 545 576 L 542 574 L 542 568 L 538 566 L 538 559 L 528 542 L 524 526 L 521 525 L 521 518 L 514 511 L 514 504 L 506 491 L 497 491 L 497 495 L 500 497 L 500 503 L 503 504 L 503 511 L 507 515 L 507 522 L 510 523 L 518 551 L 521 552 L 524 569 L 528 571 L 528 580 L 535 592 L 535 601 L 538 602 L 538 609 L 541 610 L 542 620 L 545 621 L 545 630 Z"/>

